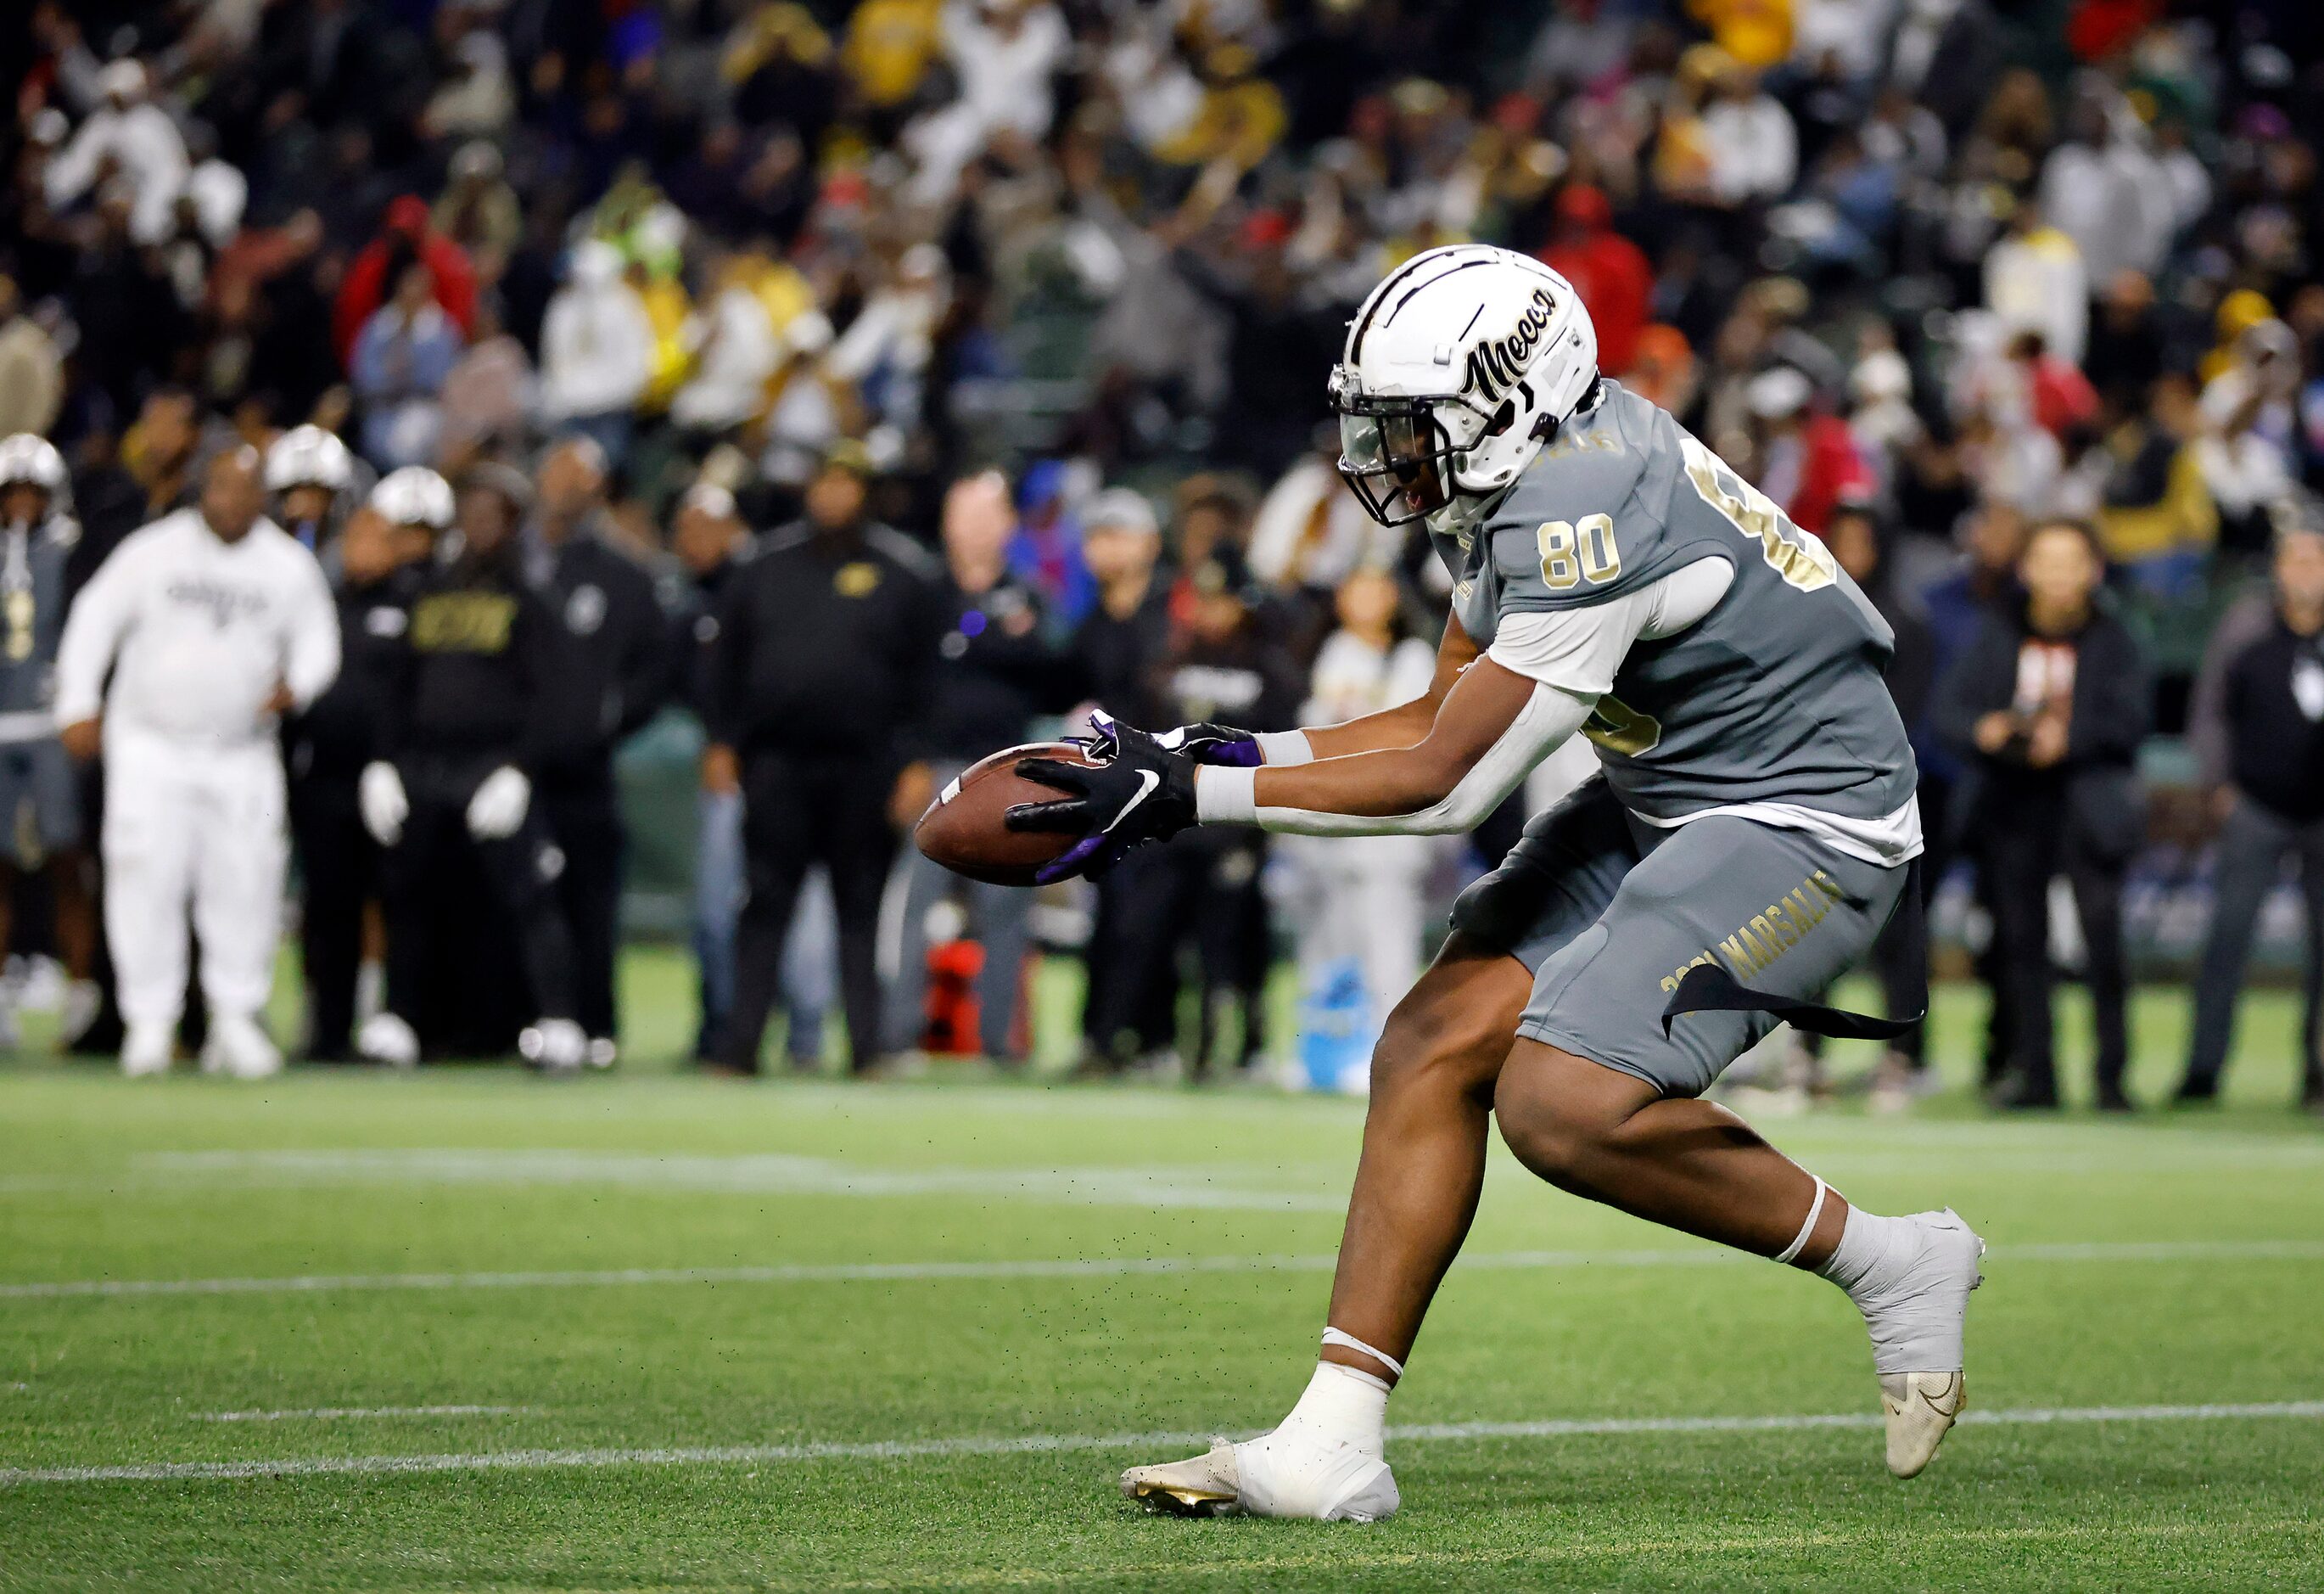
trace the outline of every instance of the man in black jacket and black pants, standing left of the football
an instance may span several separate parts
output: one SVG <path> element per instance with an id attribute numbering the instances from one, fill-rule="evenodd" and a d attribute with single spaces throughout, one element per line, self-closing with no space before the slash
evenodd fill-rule
<path id="1" fill-rule="evenodd" d="M 744 795 L 751 892 L 725 1064 L 746 1074 L 816 862 L 832 876 L 855 1069 L 881 1055 L 878 906 L 895 827 L 911 820 L 899 811 L 927 790 L 913 748 L 948 616 L 937 560 L 869 520 L 867 490 L 862 444 L 837 444 L 806 488 L 806 518 L 760 541 L 718 613 L 702 783 Z"/>

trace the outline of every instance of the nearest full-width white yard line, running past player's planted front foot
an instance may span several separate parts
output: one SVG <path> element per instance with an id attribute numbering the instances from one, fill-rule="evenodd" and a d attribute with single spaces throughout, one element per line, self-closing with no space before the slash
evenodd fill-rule
<path id="1" fill-rule="evenodd" d="M 2324 1417 L 2324 1401 L 2245 1406 L 2029 1406 L 1968 1410 L 1980 1427 L 2057 1422 L 2222 1422 Z M 1548 1422 L 1436 1422 L 1390 1429 L 1401 1441 L 1592 1438 L 1622 1434 L 1789 1434 L 1799 1429 L 1875 1429 L 1873 1413 L 1792 1413 L 1764 1417 L 1557 1417 Z M 660 1450 L 483 1450 L 474 1455 L 337 1455 L 274 1462 L 130 1462 L 116 1466 L 12 1466 L 0 1487 L 35 1482 L 211 1482 L 232 1478 L 325 1478 L 372 1473 L 488 1473 L 567 1466 L 774 1466 L 783 1462 L 911 1462 L 955 1455 L 1041 1455 L 1057 1450 L 1143 1450 L 1199 1445 L 1199 1434 L 971 1434 L 962 1438 L 890 1438 L 820 1445 L 672 1445 Z"/>

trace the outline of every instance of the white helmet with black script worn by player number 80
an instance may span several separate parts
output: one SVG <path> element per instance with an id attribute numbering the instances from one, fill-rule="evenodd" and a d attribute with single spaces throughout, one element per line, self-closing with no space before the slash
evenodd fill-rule
<path id="1" fill-rule="evenodd" d="M 1573 283 L 1513 249 L 1429 249 L 1348 323 L 1332 372 L 1339 474 L 1380 525 L 1457 523 L 1534 462 L 1597 379 Z"/>

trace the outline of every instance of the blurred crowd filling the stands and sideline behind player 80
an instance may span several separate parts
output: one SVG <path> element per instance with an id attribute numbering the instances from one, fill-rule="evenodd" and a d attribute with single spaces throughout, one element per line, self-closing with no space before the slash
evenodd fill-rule
<path id="1" fill-rule="evenodd" d="M 1332 1036 L 1360 1057 L 1522 816 L 1192 834 L 1053 904 L 962 897 L 897 834 L 1090 704 L 1267 730 L 1408 695 L 1446 583 L 1341 490 L 1322 379 L 1387 267 L 1499 242 L 1892 616 L 1936 862 L 1994 927 L 2001 1099 L 2054 1099 L 2064 964 L 2119 1104 L 2138 760 L 2192 734 L 2187 823 L 2226 827 L 2201 1097 L 2282 862 L 2324 897 L 2319 63 L 2312 0 L 40 0 L 0 26 L 0 435 L 60 476 L 9 476 L 44 500 L 9 500 L 0 618 L 49 602 L 49 520 L 56 604 L 211 493 L 318 558 L 335 685 L 249 704 L 286 725 L 316 1055 L 390 1015 L 395 1060 L 611 1062 L 614 753 L 676 706 L 720 1067 L 786 1006 L 802 1055 L 823 1006 L 862 1067 L 1023 1055 L 1025 948 L 1062 939 L 1090 1069 L 1229 1069 L 1287 941 L 1299 1046 L 1360 1076 Z M 12 837 L 16 950 L 88 992 L 107 704 L 40 776 L 56 834 Z M 14 706 L 30 769 L 88 704 Z M 139 974 L 179 988 L 149 1027 L 232 985 L 195 939 L 202 976 Z M 1910 1046 L 1885 1069 L 1917 1087 Z"/>

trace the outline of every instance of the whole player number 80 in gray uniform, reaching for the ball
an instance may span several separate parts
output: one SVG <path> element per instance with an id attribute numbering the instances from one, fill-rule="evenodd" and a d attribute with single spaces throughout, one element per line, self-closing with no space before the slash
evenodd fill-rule
<path id="1" fill-rule="evenodd" d="M 1197 823 L 1464 832 L 1576 732 L 1604 771 L 1462 895 L 1387 1020 L 1306 1394 L 1260 1438 L 1127 1471 L 1125 1494 L 1397 1508 L 1387 1394 L 1476 1213 L 1490 1118 L 1559 1190 L 1841 1285 L 1910 1478 L 1961 1410 L 1982 1241 L 1952 1211 L 1852 1206 L 1701 1099 L 1780 1018 L 1894 1034 L 1810 1004 L 1889 916 L 1917 927 L 1889 627 L 1815 537 L 1599 374 L 1573 288 L 1527 256 L 1459 244 L 1392 272 L 1332 407 L 1348 486 L 1383 525 L 1425 525 L 1452 574 L 1427 697 L 1269 737 L 1102 727 L 1109 762 L 1020 767 L 1069 795 L 1009 823 L 1081 834 L 1069 874 Z"/>

